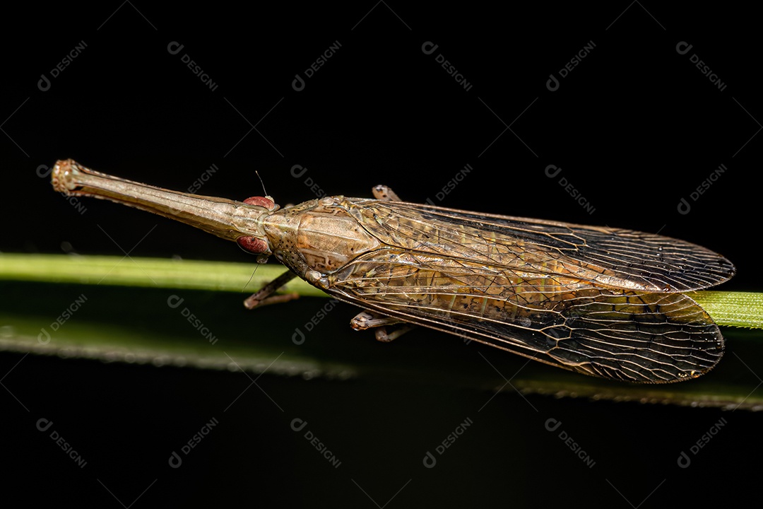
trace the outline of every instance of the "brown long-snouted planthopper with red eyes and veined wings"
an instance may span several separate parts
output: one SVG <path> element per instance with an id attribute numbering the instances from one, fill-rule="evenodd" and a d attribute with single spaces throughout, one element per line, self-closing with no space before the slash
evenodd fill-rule
<path id="1" fill-rule="evenodd" d="M 117 201 L 275 256 L 291 272 L 246 300 L 253 308 L 299 276 L 366 311 L 356 330 L 392 340 L 418 324 L 570 369 L 627 382 L 694 379 L 723 356 L 723 336 L 682 292 L 735 269 L 704 247 L 655 234 L 375 198 L 332 196 L 279 208 L 189 195 L 58 161 L 53 187 Z M 402 326 L 400 325 L 402 324 Z M 401 327 L 386 332 L 387 326 Z"/>

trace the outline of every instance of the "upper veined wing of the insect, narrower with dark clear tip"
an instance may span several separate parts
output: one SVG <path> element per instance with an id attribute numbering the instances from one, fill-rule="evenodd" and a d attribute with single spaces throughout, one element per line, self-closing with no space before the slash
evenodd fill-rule
<path id="1" fill-rule="evenodd" d="M 539 273 L 595 286 L 689 292 L 725 282 L 728 259 L 702 246 L 633 230 L 476 214 L 348 198 L 349 214 L 388 246 Z"/>

